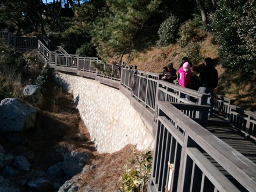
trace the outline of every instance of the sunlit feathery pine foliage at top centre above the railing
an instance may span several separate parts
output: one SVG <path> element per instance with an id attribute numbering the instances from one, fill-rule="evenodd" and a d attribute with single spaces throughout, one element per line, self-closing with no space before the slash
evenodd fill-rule
<path id="1" fill-rule="evenodd" d="M 90 33 L 100 58 L 120 61 L 136 46 L 138 34 L 160 1 L 108 0 L 106 3 L 108 9 L 101 11 Z"/>

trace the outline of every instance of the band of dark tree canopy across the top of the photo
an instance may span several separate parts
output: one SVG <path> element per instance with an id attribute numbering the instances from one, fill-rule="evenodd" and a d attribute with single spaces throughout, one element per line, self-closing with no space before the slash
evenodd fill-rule
<path id="1" fill-rule="evenodd" d="M 42 0 L 1 0 L 1 28 L 8 28 L 19 35 L 36 32 L 49 38 L 51 44 L 61 45 L 72 54 L 77 52 L 84 56 L 122 61 L 124 54 L 131 54 L 145 45 L 155 46 L 159 42 L 160 27 L 161 38 L 168 38 L 168 33 L 171 33 L 171 41 L 161 39 L 165 42 L 163 45 L 166 46 L 166 42 L 167 45 L 179 42 L 182 37 L 177 34 L 178 30 L 166 23 L 168 18 L 173 17 L 179 23 L 169 23 L 175 23 L 177 28 L 183 27 L 183 32 L 194 33 L 184 31 L 184 23 L 190 21 L 194 27 L 201 27 L 202 30 L 204 26 L 204 30 L 213 33 L 220 46 L 219 56 L 223 67 L 256 73 L 256 0 L 47 2 L 44 5 Z M 66 4 L 63 6 L 61 3 Z M 199 17 L 201 25 L 196 25 Z"/>

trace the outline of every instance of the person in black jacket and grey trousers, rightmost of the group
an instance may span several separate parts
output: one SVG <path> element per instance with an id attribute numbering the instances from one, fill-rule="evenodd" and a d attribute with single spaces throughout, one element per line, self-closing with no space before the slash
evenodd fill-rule
<path id="1" fill-rule="evenodd" d="M 218 85 L 219 76 L 218 71 L 212 66 L 212 58 L 205 58 L 204 65 L 205 66 L 202 68 L 199 75 L 200 87 L 198 91 L 210 95 L 207 101 L 207 104 L 211 106 L 208 116 L 212 116 L 214 107 L 214 89 Z"/>

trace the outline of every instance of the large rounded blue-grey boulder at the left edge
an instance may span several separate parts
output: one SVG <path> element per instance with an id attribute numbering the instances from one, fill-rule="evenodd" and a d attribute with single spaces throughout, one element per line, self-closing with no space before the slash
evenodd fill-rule
<path id="1" fill-rule="evenodd" d="M 34 127 L 37 110 L 17 98 L 0 103 L 0 131 L 23 131 Z"/>

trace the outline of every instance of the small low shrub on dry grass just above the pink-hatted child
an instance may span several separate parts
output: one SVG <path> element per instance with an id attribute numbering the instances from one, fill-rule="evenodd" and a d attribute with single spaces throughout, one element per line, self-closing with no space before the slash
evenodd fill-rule
<path id="1" fill-rule="evenodd" d="M 187 56 L 190 62 L 197 66 L 202 62 L 203 57 L 200 54 L 200 43 L 199 42 L 190 42 L 186 47 L 182 49 L 182 57 Z"/>

